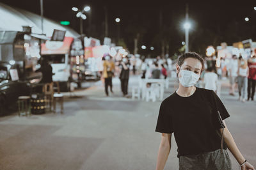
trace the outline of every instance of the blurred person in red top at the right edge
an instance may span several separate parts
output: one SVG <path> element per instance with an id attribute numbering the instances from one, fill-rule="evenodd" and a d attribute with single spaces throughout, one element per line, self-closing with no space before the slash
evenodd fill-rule
<path id="1" fill-rule="evenodd" d="M 249 75 L 248 75 L 248 98 L 253 100 L 256 85 L 256 56 L 253 56 L 248 60 Z"/>

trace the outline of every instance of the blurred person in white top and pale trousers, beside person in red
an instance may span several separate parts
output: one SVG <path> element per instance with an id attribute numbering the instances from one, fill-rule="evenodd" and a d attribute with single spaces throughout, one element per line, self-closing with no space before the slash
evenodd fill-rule
<path id="1" fill-rule="evenodd" d="M 238 63 L 238 70 L 237 70 L 237 82 L 238 82 L 238 92 L 239 92 L 239 99 L 245 102 L 247 96 L 247 84 L 248 84 L 248 74 L 249 69 L 247 66 L 247 61 L 243 59 L 242 56 L 239 57 Z M 243 89 L 242 89 L 243 88 Z M 242 98 L 241 98 L 242 96 Z"/>

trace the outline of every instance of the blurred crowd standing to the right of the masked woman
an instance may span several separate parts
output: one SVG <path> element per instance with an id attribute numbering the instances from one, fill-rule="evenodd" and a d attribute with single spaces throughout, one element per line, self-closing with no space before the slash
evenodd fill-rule
<path id="1" fill-rule="evenodd" d="M 229 79 L 229 94 L 236 96 L 238 100 L 254 100 L 256 82 L 256 56 L 246 59 L 242 56 L 232 56 L 232 59 L 221 58 L 220 67 L 216 67 L 216 60 L 205 60 L 206 71 L 202 73 L 201 82 L 204 88 L 218 91 L 218 80 Z M 198 85 L 200 86 L 200 85 Z"/>

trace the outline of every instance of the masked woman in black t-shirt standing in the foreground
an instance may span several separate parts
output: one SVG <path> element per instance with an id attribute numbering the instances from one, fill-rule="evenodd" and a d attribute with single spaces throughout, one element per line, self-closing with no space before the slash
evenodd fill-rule
<path id="1" fill-rule="evenodd" d="M 229 117 L 220 98 L 212 90 L 195 87 L 204 70 L 204 59 L 189 52 L 179 58 L 176 68 L 179 88 L 162 102 L 157 120 L 156 132 L 161 132 L 162 138 L 156 169 L 164 169 L 173 133 L 179 169 L 232 169 L 228 148 L 241 169 L 254 170 L 238 150 L 225 122 L 218 119 L 218 111 L 223 120 Z"/>

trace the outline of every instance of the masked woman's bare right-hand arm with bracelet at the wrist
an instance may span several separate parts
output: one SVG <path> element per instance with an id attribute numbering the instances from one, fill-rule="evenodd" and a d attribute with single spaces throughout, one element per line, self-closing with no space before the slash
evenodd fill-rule
<path id="1" fill-rule="evenodd" d="M 225 121 L 223 121 L 223 123 L 225 125 L 224 132 L 223 132 L 223 138 L 225 140 L 225 143 L 227 144 L 228 150 L 230 150 L 232 155 L 234 155 L 234 157 L 236 158 L 236 160 L 239 164 L 243 164 L 245 158 L 243 157 L 243 155 L 241 154 L 241 152 L 237 148 L 236 143 L 235 143 L 232 135 L 230 134 Z M 222 133 L 222 128 L 220 129 L 220 132 Z M 246 164 L 244 164 L 242 169 L 255 170 L 254 167 L 249 162 L 246 162 Z"/>

